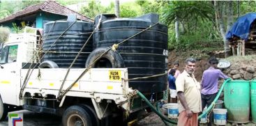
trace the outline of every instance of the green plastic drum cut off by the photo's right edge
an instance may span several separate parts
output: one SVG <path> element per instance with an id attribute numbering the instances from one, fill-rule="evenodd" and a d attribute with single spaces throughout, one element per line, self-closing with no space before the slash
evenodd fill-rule
<path id="1" fill-rule="evenodd" d="M 252 122 L 256 123 L 256 80 L 250 84 L 250 109 L 252 113 Z"/>

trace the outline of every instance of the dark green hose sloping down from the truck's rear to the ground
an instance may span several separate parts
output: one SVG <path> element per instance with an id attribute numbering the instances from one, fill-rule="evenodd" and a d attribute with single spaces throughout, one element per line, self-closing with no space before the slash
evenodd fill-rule
<path id="1" fill-rule="evenodd" d="M 165 120 L 167 123 L 177 124 L 176 121 L 170 120 L 169 118 L 163 116 L 162 113 L 160 113 L 159 111 L 157 111 L 156 108 L 153 107 L 153 105 L 149 102 L 149 100 L 147 100 L 146 97 L 145 97 L 142 93 L 140 93 L 139 90 L 136 90 L 136 91 L 137 91 L 137 95 L 139 95 L 140 97 L 142 97 L 142 100 L 144 100 L 144 101 L 146 102 L 146 104 L 149 105 L 149 107 L 151 108 L 151 110 L 152 110 L 153 112 L 155 112 L 160 118 L 162 118 L 163 120 Z"/>

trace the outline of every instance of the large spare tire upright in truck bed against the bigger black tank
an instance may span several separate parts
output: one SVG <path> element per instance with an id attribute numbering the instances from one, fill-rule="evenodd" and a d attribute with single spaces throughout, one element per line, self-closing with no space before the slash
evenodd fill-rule
<path id="1" fill-rule="evenodd" d="M 99 58 L 107 49 L 107 47 L 94 49 L 86 60 L 85 68 L 88 68 L 89 65 L 96 61 L 96 59 Z M 110 49 L 110 51 L 104 54 L 100 60 L 91 66 L 91 68 L 124 68 L 124 62 L 122 56 L 118 52 L 114 52 Z"/>

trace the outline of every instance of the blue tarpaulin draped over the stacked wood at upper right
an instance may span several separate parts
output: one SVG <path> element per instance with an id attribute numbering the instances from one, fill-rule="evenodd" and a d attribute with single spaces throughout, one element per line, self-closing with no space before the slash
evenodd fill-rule
<path id="1" fill-rule="evenodd" d="M 232 36 L 237 36 L 247 41 L 250 34 L 250 24 L 252 24 L 255 19 L 256 13 L 248 13 L 239 17 L 227 32 L 226 39 L 229 40 Z"/>

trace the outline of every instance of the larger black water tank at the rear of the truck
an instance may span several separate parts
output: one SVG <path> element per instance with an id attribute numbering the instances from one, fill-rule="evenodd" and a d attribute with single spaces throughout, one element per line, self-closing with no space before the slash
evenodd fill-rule
<path id="1" fill-rule="evenodd" d="M 98 24 L 99 19 L 100 15 L 96 17 L 95 24 Z M 152 13 L 136 18 L 114 18 L 111 15 L 103 15 L 100 29 L 93 35 L 93 49 L 111 47 L 156 22 L 158 15 Z M 166 71 L 167 32 L 167 26 L 156 24 L 119 45 L 117 52 L 121 54 L 125 67 L 128 68 L 129 79 L 163 74 Z M 161 92 L 167 88 L 167 75 L 129 81 L 129 86 L 144 93 Z"/>

